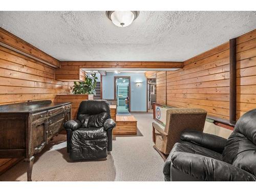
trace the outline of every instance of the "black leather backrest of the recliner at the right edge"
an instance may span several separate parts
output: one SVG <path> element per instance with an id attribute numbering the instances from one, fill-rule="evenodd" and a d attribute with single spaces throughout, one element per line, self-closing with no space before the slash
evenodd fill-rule
<path id="1" fill-rule="evenodd" d="M 225 162 L 256 176 L 256 109 L 237 121 L 222 156 Z"/>

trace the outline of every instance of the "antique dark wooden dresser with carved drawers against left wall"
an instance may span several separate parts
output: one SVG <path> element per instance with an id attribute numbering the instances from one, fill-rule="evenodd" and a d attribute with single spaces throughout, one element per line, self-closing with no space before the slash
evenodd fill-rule
<path id="1" fill-rule="evenodd" d="M 25 158 L 31 181 L 34 155 L 71 118 L 71 103 L 50 100 L 0 105 L 0 158 Z"/>

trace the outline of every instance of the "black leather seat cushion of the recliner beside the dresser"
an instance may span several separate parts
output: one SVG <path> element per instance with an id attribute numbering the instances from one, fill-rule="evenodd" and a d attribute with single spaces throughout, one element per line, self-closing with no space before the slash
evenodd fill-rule
<path id="1" fill-rule="evenodd" d="M 102 139 L 106 137 L 106 131 L 104 131 L 103 127 L 95 129 L 80 128 L 71 134 L 71 140 L 81 143 L 83 143 L 84 140 Z"/>

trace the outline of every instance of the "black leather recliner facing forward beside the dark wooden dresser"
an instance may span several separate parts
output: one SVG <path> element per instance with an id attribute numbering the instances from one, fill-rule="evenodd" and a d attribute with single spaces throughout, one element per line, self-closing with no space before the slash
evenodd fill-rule
<path id="1" fill-rule="evenodd" d="M 115 126 L 108 103 L 103 100 L 82 101 L 77 119 L 64 124 L 70 159 L 105 158 L 112 151 L 112 130 Z"/>

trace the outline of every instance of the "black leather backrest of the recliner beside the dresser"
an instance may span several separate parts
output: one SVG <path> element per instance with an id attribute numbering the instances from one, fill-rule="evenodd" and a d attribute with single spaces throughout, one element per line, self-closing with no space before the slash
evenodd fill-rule
<path id="1" fill-rule="evenodd" d="M 110 118 L 110 106 L 103 100 L 86 100 L 79 105 L 77 119 L 84 128 L 102 127 Z"/>

